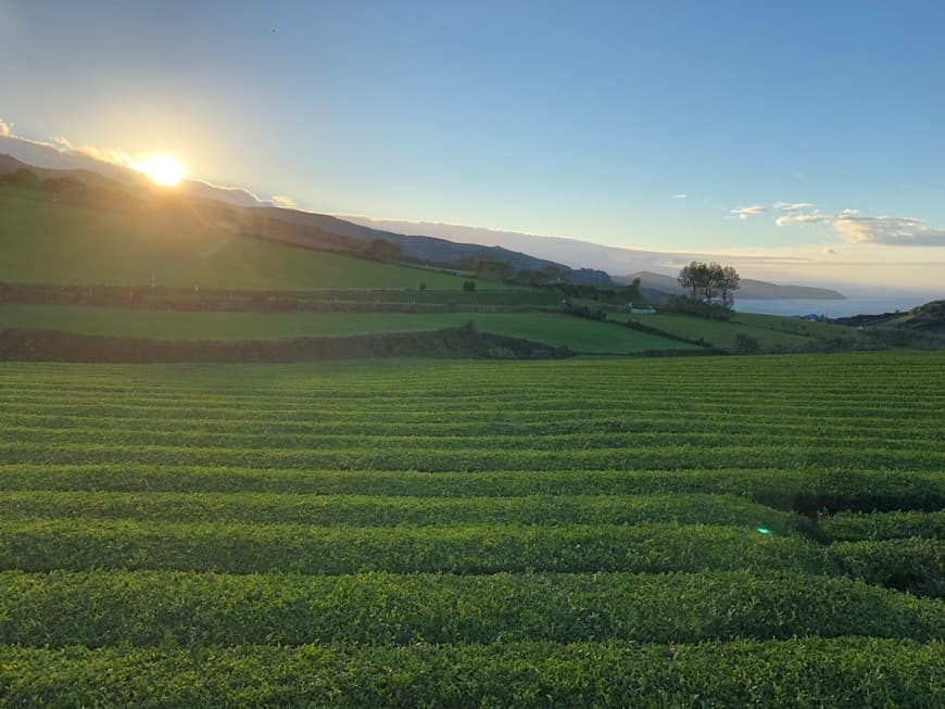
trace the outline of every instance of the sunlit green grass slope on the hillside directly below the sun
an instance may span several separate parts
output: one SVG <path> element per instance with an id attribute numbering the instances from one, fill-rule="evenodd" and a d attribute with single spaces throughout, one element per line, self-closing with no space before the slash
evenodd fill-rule
<path id="1" fill-rule="evenodd" d="M 0 281 L 254 288 L 462 290 L 464 279 L 225 236 L 186 220 L 52 204 L 45 192 L 0 189 Z M 481 289 L 507 288 L 480 281 Z"/>

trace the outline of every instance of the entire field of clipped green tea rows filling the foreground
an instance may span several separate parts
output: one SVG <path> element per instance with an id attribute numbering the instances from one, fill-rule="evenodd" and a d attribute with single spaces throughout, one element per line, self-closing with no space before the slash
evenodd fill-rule
<path id="1" fill-rule="evenodd" d="M 908 706 L 945 362 L 0 366 L 0 705 Z"/>

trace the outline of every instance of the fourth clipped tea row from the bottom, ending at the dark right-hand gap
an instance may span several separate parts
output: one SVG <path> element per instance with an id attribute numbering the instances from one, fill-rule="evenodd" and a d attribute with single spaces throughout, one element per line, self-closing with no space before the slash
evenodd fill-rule
<path id="1" fill-rule="evenodd" d="M 807 520 L 731 495 L 529 495 L 408 497 L 257 492 L 0 492 L 13 519 L 134 519 L 158 522 L 256 522 L 348 527 L 463 524 L 721 524 L 779 534 Z"/>

